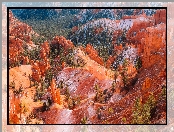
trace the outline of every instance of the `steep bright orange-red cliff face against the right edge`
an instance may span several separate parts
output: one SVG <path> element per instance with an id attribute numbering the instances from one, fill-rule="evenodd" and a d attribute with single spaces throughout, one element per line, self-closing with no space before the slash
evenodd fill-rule
<path id="1" fill-rule="evenodd" d="M 146 31 L 144 39 L 142 39 L 142 66 L 147 68 L 158 61 L 165 64 L 165 24 L 161 24 L 157 27 L 146 28 Z"/>

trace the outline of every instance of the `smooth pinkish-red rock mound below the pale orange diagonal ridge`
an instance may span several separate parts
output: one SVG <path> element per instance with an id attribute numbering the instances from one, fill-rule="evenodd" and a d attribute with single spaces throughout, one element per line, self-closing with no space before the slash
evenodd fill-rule
<path id="1" fill-rule="evenodd" d="M 81 96 L 83 99 L 93 96 L 95 84 L 101 86 L 102 89 L 106 89 L 112 84 L 112 80 L 99 80 L 88 70 L 73 68 L 66 68 L 59 73 L 57 84 L 61 81 L 68 87 L 70 95 Z"/>

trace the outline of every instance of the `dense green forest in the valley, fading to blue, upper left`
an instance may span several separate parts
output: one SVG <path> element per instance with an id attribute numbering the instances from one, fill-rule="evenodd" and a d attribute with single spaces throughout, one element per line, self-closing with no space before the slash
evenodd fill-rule
<path id="1" fill-rule="evenodd" d="M 70 25 L 72 19 L 73 15 L 68 15 L 68 16 L 59 15 L 57 17 L 54 17 L 53 19 L 45 19 L 37 21 L 33 19 L 27 19 L 24 22 L 27 23 L 28 25 L 32 25 L 32 28 L 35 32 L 37 32 L 40 36 L 43 36 L 44 39 L 50 41 L 56 35 L 64 36 L 67 38 L 68 34 L 71 31 L 71 28 L 68 25 Z M 40 38 L 39 41 L 40 40 L 42 41 L 42 37 Z"/>

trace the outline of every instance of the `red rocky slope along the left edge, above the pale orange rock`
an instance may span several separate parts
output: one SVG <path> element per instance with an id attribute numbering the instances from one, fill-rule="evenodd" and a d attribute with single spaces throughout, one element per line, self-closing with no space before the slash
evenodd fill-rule
<path id="1" fill-rule="evenodd" d="M 19 63 L 24 59 L 24 64 L 26 64 L 27 58 L 23 58 L 21 54 L 23 53 L 24 43 L 29 45 L 33 44 L 31 41 L 31 35 L 36 35 L 32 28 L 25 23 L 20 22 L 13 16 L 13 13 L 9 11 L 9 63 L 15 64 Z"/>

